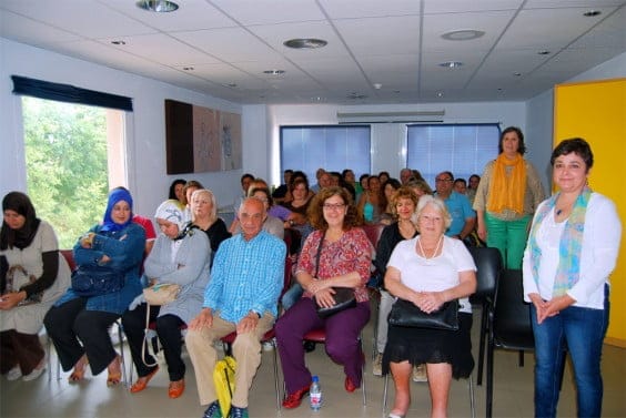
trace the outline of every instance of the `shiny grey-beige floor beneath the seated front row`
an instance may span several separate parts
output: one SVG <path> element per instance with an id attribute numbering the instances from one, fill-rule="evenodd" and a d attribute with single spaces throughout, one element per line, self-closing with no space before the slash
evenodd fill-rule
<path id="1" fill-rule="evenodd" d="M 479 312 L 478 312 L 479 314 Z M 478 315 L 475 314 L 475 318 Z M 479 320 L 474 322 L 474 332 Z M 476 333 L 475 333 L 476 334 Z M 372 323 L 364 332 L 365 348 L 371 350 Z M 474 339 L 477 346 L 477 338 Z M 476 350 L 475 350 L 476 351 Z M 55 356 L 52 354 L 52 368 Z M 129 356 L 127 356 L 129 358 Z M 34 381 L 8 381 L 0 378 L 0 417 L 201 417 L 195 379 L 189 358 L 186 391 L 179 399 L 168 398 L 168 377 L 163 368 L 143 392 L 131 395 L 122 386 L 108 388 L 105 373 L 78 385 L 69 385 L 68 374 L 57 380 L 49 371 Z M 263 360 L 250 395 L 250 415 L 261 417 L 381 417 L 383 378 L 372 376 L 367 364 L 365 383 L 367 405 L 362 405 L 361 391 L 347 394 L 343 389 L 343 374 L 324 354 L 323 347 L 307 355 L 311 370 L 320 376 L 324 406 L 312 411 L 306 402 L 293 410 L 276 410 L 272 351 L 263 351 Z M 496 350 L 494 374 L 494 417 L 533 416 L 533 357 L 525 356 L 526 366 L 517 366 L 517 353 Z M 626 391 L 622 379 L 626 376 L 626 349 L 605 346 L 603 377 L 605 396 L 603 416 L 626 417 Z M 474 374 L 475 381 L 475 374 Z M 281 384 L 282 385 L 282 384 Z M 453 381 L 448 412 L 451 417 L 471 416 L 467 380 Z M 485 415 L 485 388 L 474 385 L 476 416 Z M 430 398 L 426 384 L 413 384 L 410 417 L 427 417 Z M 390 380 L 388 402 L 393 398 Z M 387 410 L 388 411 L 388 410 Z M 574 417 L 575 389 L 568 365 L 558 408 L 559 417 Z"/>

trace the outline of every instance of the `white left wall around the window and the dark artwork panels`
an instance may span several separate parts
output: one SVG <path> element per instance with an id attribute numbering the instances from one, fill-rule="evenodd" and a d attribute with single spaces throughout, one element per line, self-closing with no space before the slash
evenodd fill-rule
<path id="1" fill-rule="evenodd" d="M 27 185 L 21 100 L 11 93 L 12 74 L 132 98 L 133 112 L 128 113 L 128 185 L 135 212 L 152 217 L 176 177 L 199 180 L 215 192 L 221 206 L 232 204 L 236 196 L 241 171 L 166 175 L 163 101 L 173 99 L 232 113 L 242 113 L 241 105 L 0 38 L 1 196 L 12 190 L 26 191 Z M 243 126 L 245 123 L 244 119 Z"/>

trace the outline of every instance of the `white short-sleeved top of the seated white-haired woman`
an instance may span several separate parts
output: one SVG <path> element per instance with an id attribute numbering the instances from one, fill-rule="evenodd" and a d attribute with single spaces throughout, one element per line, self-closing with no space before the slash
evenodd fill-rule
<path id="1" fill-rule="evenodd" d="M 387 267 L 400 271 L 400 281 L 416 292 L 441 292 L 461 283 L 461 272 L 476 271 L 474 258 L 461 239 L 444 236 L 442 253 L 433 258 L 417 254 L 420 236 L 401 241 L 394 248 Z M 467 297 L 458 299 L 460 312 L 472 313 Z"/>

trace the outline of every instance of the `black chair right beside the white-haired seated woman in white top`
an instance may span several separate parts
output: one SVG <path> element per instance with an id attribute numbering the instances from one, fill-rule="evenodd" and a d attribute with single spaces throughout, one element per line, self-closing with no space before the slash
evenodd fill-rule
<path id="1" fill-rule="evenodd" d="M 470 247 L 476 264 L 476 292 L 470 297 L 472 304 L 481 305 L 481 343 L 478 346 L 478 370 L 476 385 L 483 384 L 485 343 L 489 332 L 488 315 L 493 309 L 496 284 L 502 275 L 502 255 L 497 248 Z"/>

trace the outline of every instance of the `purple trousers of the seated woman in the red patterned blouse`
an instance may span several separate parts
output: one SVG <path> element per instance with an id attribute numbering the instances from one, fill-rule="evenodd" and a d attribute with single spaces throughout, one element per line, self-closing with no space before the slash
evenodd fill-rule
<path id="1" fill-rule="evenodd" d="M 342 310 L 321 319 L 315 303 L 302 297 L 276 322 L 276 341 L 285 378 L 287 394 L 293 394 L 311 385 L 311 371 L 304 364 L 302 337 L 312 329 L 326 330 L 326 354 L 343 365 L 343 371 L 359 387 L 363 353 L 359 336 L 370 320 L 370 303 L 362 302 L 356 307 Z"/>

